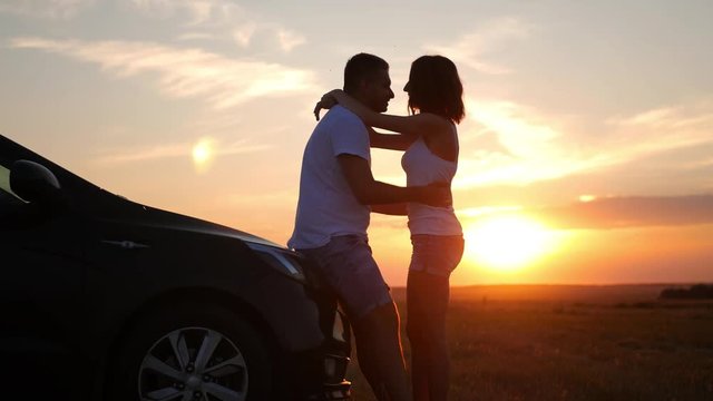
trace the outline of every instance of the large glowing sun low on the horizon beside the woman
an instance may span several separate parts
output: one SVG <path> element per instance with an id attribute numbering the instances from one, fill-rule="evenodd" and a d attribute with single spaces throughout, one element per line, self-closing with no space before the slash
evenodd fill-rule
<path id="1" fill-rule="evenodd" d="M 484 217 L 467 227 L 466 257 L 486 268 L 519 270 L 554 247 L 554 235 L 540 223 L 518 215 Z"/>

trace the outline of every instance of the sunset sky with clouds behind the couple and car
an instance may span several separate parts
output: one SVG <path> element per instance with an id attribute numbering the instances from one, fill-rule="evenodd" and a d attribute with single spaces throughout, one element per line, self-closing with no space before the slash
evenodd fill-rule
<path id="1" fill-rule="evenodd" d="M 713 282 L 713 2 L 4 0 L 0 134 L 131 200 L 285 244 L 321 95 L 354 53 L 395 98 L 465 86 L 453 285 Z M 372 150 L 404 185 L 401 155 Z M 403 217 L 372 215 L 390 285 Z"/>

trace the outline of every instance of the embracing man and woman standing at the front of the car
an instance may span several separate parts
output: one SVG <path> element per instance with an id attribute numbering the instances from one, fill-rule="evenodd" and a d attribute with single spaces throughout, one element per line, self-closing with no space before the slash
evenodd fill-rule
<path id="1" fill-rule="evenodd" d="M 349 59 L 343 90 L 325 94 L 314 109 L 318 120 L 321 109 L 330 110 L 304 150 L 289 246 L 314 260 L 340 299 L 352 322 L 360 368 L 377 398 L 442 401 L 449 387 L 449 276 L 463 252 L 450 193 L 458 165 L 456 125 L 465 116 L 462 85 L 449 59 L 423 56 L 411 65 L 403 90 L 410 115 L 383 114 L 394 96 L 389 65 L 368 53 Z M 374 179 L 370 147 L 403 151 L 406 187 Z M 372 212 L 408 215 L 411 389 L 399 313 L 369 247 Z"/>

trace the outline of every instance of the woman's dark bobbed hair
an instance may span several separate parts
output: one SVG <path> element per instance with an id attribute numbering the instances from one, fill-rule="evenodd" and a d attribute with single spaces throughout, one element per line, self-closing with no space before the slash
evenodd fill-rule
<path id="1" fill-rule="evenodd" d="M 409 109 L 460 123 L 466 116 L 463 86 L 456 65 L 443 56 L 421 56 L 411 63 Z"/>

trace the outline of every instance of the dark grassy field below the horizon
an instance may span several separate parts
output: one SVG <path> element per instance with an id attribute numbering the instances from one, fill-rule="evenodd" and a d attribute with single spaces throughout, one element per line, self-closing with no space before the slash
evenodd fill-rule
<path id="1" fill-rule="evenodd" d="M 665 287 L 453 288 L 451 400 L 713 400 L 713 301 Z M 352 356 L 353 400 L 375 400 Z"/>

